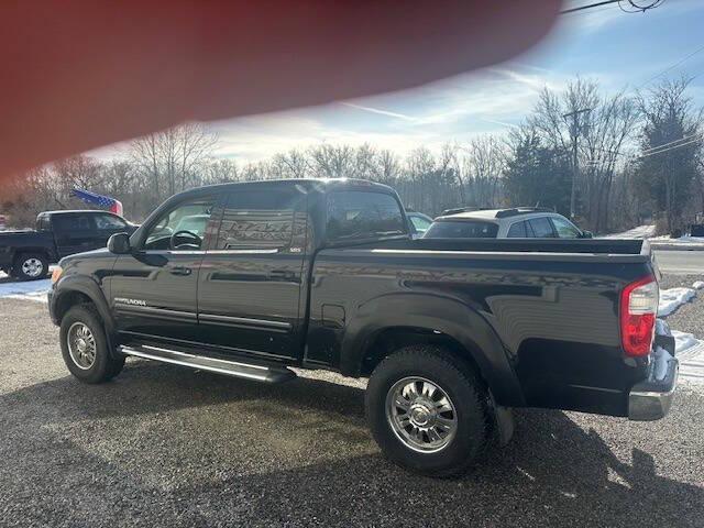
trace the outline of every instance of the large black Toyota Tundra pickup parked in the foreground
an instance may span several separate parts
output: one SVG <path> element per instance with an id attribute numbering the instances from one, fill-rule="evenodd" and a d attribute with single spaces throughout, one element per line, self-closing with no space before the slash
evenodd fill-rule
<path id="1" fill-rule="evenodd" d="M 411 240 L 391 188 L 305 179 L 174 196 L 64 258 L 48 306 L 87 383 L 130 355 L 268 383 L 369 377 L 384 453 L 450 475 L 507 441 L 512 407 L 662 418 L 678 361 L 658 276 L 640 240 Z"/>

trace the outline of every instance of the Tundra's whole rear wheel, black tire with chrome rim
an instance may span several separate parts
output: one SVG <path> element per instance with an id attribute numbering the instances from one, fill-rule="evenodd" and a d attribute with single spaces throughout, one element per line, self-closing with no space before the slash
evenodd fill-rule
<path id="1" fill-rule="evenodd" d="M 439 346 L 408 346 L 386 358 L 370 377 L 365 404 L 384 454 L 417 473 L 462 473 L 490 437 L 483 383 Z"/>

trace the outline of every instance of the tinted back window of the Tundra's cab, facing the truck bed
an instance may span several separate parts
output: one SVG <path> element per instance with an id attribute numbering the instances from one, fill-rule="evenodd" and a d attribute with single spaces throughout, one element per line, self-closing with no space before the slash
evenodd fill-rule
<path id="1" fill-rule="evenodd" d="M 389 194 L 332 190 L 327 196 L 328 241 L 408 233 L 398 200 Z"/>

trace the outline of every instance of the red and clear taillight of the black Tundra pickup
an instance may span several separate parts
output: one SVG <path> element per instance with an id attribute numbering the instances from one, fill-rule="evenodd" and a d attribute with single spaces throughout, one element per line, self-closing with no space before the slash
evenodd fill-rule
<path id="1" fill-rule="evenodd" d="M 627 355 L 647 355 L 658 317 L 658 283 L 653 277 L 628 284 L 620 294 L 620 339 Z"/>

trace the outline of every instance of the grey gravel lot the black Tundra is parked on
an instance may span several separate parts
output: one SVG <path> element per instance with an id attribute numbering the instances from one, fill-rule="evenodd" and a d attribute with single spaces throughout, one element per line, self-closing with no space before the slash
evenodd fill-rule
<path id="1" fill-rule="evenodd" d="M 675 328 L 694 329 L 692 307 L 671 319 L 692 328 Z M 0 337 L 2 527 L 704 526 L 693 386 L 658 422 L 518 410 L 507 448 L 438 481 L 381 457 L 359 383 L 265 386 L 129 361 L 86 386 L 45 305 L 23 300 L 0 299 Z"/>

